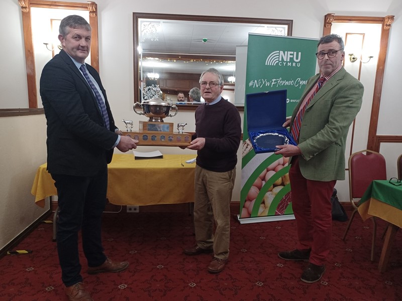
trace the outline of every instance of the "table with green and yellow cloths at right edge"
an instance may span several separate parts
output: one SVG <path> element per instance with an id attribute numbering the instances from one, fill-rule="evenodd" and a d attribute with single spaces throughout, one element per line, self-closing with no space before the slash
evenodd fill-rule
<path id="1" fill-rule="evenodd" d="M 378 263 L 378 270 L 383 272 L 396 231 L 402 228 L 402 185 L 393 185 L 387 180 L 375 180 L 367 188 L 358 206 L 357 210 L 363 221 L 376 216 L 389 223 Z"/>

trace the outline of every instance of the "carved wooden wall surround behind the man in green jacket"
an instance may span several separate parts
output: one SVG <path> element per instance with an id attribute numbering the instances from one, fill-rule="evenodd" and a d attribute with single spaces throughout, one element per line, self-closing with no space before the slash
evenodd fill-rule
<path id="1" fill-rule="evenodd" d="M 385 71 L 385 59 L 388 49 L 389 29 L 394 20 L 394 16 L 386 17 L 359 17 L 359 16 L 336 16 L 327 14 L 324 17 L 323 36 L 331 34 L 333 23 L 367 23 L 381 24 L 380 49 L 378 54 L 377 71 L 374 80 L 373 102 L 371 106 L 370 125 L 368 128 L 367 149 L 379 151 L 380 142 L 401 142 L 400 136 L 379 136 L 377 135 L 378 114 L 380 109 L 382 80 Z"/>

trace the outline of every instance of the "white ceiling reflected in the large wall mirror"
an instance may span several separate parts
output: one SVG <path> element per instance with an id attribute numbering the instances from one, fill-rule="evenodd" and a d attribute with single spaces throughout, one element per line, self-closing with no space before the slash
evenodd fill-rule
<path id="1" fill-rule="evenodd" d="M 214 67 L 230 75 L 235 70 L 236 47 L 247 46 L 249 33 L 287 35 L 286 27 L 278 25 L 156 19 L 139 19 L 139 23 L 144 72 L 201 73 Z M 162 59 L 172 55 L 175 61 Z M 193 60 L 179 59 L 182 55 Z M 159 60 L 148 59 L 151 56 Z"/>

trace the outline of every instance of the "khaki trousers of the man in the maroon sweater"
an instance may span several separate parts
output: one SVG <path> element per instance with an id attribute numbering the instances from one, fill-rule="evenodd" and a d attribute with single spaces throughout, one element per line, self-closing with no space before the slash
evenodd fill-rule
<path id="1" fill-rule="evenodd" d="M 217 173 L 195 167 L 195 239 L 201 248 L 213 247 L 215 257 L 221 259 L 229 257 L 230 201 L 235 179 L 236 168 L 229 172 Z"/>

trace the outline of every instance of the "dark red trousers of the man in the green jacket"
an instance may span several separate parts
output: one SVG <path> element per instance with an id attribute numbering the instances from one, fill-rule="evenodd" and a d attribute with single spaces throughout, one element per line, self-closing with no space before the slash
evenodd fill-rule
<path id="1" fill-rule="evenodd" d="M 297 225 L 297 249 L 311 249 L 310 262 L 322 265 L 331 247 L 331 196 L 336 180 L 323 182 L 306 179 L 300 172 L 298 157 L 292 158 L 291 163 L 289 180 Z"/>

